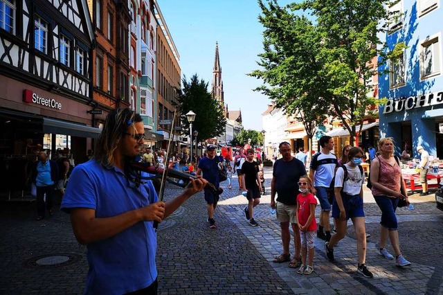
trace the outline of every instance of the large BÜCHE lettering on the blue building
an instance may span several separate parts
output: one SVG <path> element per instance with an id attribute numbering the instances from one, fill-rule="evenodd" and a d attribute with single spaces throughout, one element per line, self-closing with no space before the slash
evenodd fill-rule
<path id="1" fill-rule="evenodd" d="M 408 111 L 409 109 L 418 109 L 419 107 L 431 107 L 443 103 L 443 91 L 423 94 L 421 96 L 409 96 L 399 100 L 390 99 L 386 102 L 383 114 L 392 113 L 392 111 Z"/>

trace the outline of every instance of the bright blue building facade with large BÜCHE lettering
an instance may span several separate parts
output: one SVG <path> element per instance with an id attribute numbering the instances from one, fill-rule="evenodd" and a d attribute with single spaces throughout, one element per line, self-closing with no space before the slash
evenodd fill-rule
<path id="1" fill-rule="evenodd" d="M 389 9 L 386 53 L 406 47 L 383 63 L 379 58 L 380 137 L 393 137 L 401 153 L 405 145 L 418 158 L 417 145 L 443 159 L 442 0 L 401 0 Z"/>

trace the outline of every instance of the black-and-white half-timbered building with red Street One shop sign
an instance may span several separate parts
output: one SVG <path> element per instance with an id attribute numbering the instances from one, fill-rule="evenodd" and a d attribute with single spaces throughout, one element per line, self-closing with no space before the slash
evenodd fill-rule
<path id="1" fill-rule="evenodd" d="M 93 122 L 86 0 L 0 0 L 0 188 L 24 183 L 26 156 L 37 150 L 86 158 Z M 12 184 L 14 182 L 14 184 Z"/>

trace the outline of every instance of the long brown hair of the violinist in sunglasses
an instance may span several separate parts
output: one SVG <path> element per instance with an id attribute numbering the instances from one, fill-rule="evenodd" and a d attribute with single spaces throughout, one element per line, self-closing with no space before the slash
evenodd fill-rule
<path id="1" fill-rule="evenodd" d="M 125 136 L 125 132 L 136 134 L 134 123 L 141 121 L 141 116 L 128 108 L 110 111 L 96 141 L 94 159 L 104 166 L 114 166 L 114 151 L 118 141 Z"/>

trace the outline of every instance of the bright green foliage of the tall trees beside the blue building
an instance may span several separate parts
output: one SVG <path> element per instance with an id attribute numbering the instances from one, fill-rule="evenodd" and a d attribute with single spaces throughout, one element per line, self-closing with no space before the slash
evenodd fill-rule
<path id="1" fill-rule="evenodd" d="M 388 17 L 388 0 L 306 0 L 280 7 L 264 4 L 264 53 L 250 75 L 264 81 L 257 91 L 302 121 L 310 138 L 326 115 L 336 116 L 356 135 L 377 100 L 368 80 L 377 70 L 378 26 Z M 308 18 L 305 15 L 310 15 Z M 316 21 L 311 21 L 316 19 Z"/>

